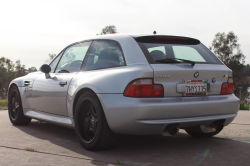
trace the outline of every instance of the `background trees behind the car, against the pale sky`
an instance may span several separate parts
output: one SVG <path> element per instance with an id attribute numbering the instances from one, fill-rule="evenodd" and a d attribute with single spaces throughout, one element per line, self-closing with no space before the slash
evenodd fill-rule
<path id="1" fill-rule="evenodd" d="M 117 29 L 114 25 L 106 26 L 100 34 L 114 34 Z M 242 53 L 239 38 L 234 32 L 217 33 L 209 49 L 213 51 L 220 60 L 233 71 L 234 94 L 244 101 L 248 97 L 247 88 L 250 87 L 250 65 L 245 65 L 245 55 Z M 49 54 L 46 62 L 50 62 L 56 54 Z M 13 63 L 10 59 L 0 58 L 0 96 L 7 94 L 8 85 L 11 80 L 37 71 L 35 67 L 25 68 L 20 60 Z"/>

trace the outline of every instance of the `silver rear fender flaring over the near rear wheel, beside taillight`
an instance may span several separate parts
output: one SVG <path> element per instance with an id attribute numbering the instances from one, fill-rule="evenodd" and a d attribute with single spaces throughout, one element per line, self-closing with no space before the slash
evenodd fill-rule
<path id="1" fill-rule="evenodd" d="M 68 115 L 73 118 L 73 102 L 81 89 L 89 88 L 96 94 L 123 94 L 136 78 L 153 78 L 152 68 L 147 64 L 79 72 L 69 85 Z"/>

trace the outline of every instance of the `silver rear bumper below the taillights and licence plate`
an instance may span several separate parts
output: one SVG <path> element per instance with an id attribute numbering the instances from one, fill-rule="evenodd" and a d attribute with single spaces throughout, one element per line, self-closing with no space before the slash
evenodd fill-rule
<path id="1" fill-rule="evenodd" d="M 118 134 L 159 134 L 168 124 L 181 128 L 225 119 L 230 124 L 239 110 L 234 95 L 203 97 L 129 98 L 123 94 L 97 94 L 108 124 Z"/>

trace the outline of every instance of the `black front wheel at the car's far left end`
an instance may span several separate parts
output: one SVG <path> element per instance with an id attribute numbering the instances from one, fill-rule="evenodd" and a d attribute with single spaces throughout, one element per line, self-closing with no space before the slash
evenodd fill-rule
<path id="1" fill-rule="evenodd" d="M 23 114 L 22 101 L 19 90 L 16 86 L 13 86 L 10 89 L 8 97 L 8 112 L 10 121 L 13 125 L 28 125 L 31 121 L 31 118 L 28 118 Z"/>

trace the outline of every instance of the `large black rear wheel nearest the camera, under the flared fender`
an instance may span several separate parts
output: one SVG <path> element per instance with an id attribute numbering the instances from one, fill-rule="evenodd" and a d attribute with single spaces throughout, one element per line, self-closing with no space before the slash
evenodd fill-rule
<path id="1" fill-rule="evenodd" d="M 75 129 L 81 145 L 88 150 L 108 149 L 115 145 L 117 136 L 111 131 L 101 103 L 92 92 L 85 92 L 77 101 Z"/>

